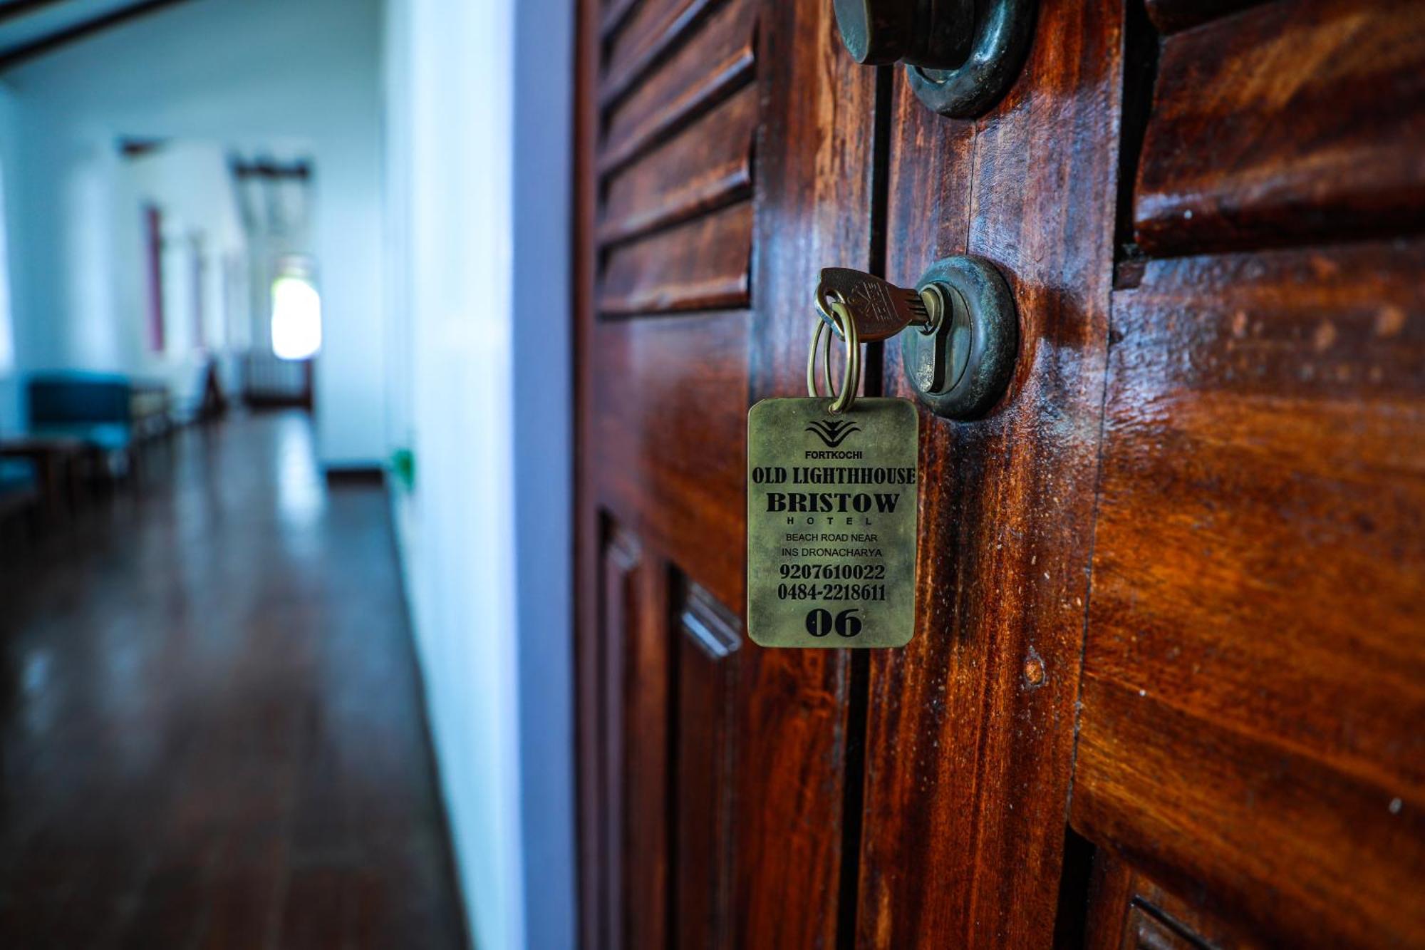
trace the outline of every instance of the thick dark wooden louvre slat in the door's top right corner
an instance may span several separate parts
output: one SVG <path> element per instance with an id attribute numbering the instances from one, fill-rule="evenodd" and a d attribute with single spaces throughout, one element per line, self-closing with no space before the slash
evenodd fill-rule
<path id="1" fill-rule="evenodd" d="M 1139 164 L 1149 254 L 1416 231 L 1425 6 L 1278 0 L 1163 43 Z"/>

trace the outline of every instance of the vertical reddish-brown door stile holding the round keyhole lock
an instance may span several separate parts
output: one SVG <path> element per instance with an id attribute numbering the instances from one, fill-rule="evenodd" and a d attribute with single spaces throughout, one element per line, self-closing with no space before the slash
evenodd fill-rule
<path id="1" fill-rule="evenodd" d="M 1087 596 L 1121 86 L 1117 3 L 1043 4 L 1023 76 L 946 121 L 898 83 L 888 275 L 1005 274 L 1016 379 L 922 417 L 915 640 L 872 658 L 859 946 L 1047 946 Z M 888 379 L 912 395 L 888 347 Z M 1032 685 L 1025 665 L 1047 673 Z"/>

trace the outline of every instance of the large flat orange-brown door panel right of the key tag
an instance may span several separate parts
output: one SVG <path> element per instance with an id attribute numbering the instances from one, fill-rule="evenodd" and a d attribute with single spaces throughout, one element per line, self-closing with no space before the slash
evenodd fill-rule
<path id="1" fill-rule="evenodd" d="M 1425 783 L 1422 270 L 1361 244 L 1114 294 L 1086 676 Z"/>

